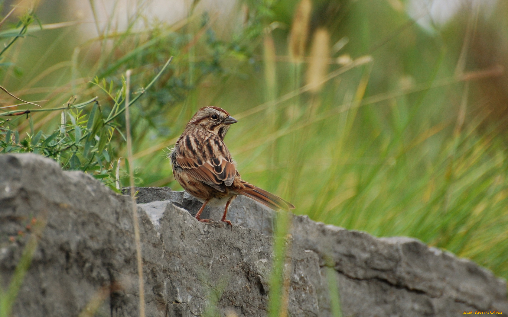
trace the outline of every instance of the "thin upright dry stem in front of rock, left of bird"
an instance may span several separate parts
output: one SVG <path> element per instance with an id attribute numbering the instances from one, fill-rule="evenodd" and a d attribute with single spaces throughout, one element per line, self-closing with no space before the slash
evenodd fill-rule
<path id="1" fill-rule="evenodd" d="M 134 238 L 136 239 L 136 257 L 138 260 L 139 283 L 139 316 L 145 317 L 145 289 L 143 283 L 143 259 L 141 257 L 141 238 L 139 235 L 138 207 L 134 197 L 134 160 L 132 157 L 131 118 L 129 115 L 129 93 L 131 84 L 131 69 L 125 73 L 125 129 L 127 134 L 127 157 L 129 160 L 129 180 L 131 183 L 132 216 L 134 220 Z"/>

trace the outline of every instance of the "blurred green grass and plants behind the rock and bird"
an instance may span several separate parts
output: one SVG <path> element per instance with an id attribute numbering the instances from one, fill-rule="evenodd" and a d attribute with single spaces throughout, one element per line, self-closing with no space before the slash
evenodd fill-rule
<path id="1" fill-rule="evenodd" d="M 0 95 L 2 153 L 128 185 L 132 69 L 137 186 L 181 190 L 167 148 L 216 105 L 239 121 L 226 144 L 242 178 L 296 214 L 508 277 L 508 2 L 2 4 L 0 85 L 22 99 Z"/>

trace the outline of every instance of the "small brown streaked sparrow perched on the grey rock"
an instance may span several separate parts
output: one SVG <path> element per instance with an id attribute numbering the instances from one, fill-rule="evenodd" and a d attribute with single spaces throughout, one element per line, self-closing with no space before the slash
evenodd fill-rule
<path id="1" fill-rule="evenodd" d="M 224 143 L 229 127 L 237 122 L 222 108 L 201 108 L 189 120 L 169 154 L 175 180 L 203 203 L 195 218 L 210 222 L 210 219 L 201 219 L 205 206 L 226 205 L 220 221 L 231 226 L 231 230 L 233 225 L 226 215 L 230 203 L 238 195 L 250 197 L 274 210 L 295 208 L 292 203 L 242 180 Z"/>

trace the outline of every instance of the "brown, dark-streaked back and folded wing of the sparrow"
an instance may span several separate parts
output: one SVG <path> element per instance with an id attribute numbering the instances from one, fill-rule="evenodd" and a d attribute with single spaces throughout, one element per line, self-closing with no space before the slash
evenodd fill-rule
<path id="1" fill-rule="evenodd" d="M 224 141 L 217 135 L 184 135 L 176 162 L 197 180 L 224 192 L 231 186 L 236 168 Z"/>

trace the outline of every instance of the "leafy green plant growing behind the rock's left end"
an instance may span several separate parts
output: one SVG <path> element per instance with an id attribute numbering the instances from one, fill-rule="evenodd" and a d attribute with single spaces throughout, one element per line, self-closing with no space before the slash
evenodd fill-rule
<path id="1" fill-rule="evenodd" d="M 11 130 L 17 119 L 12 120 L 14 122 L 0 119 L 5 124 L 4 131 L 0 132 L 0 153 L 41 154 L 56 160 L 63 168 L 89 171 L 110 185 L 115 180 L 115 162 L 110 155 L 110 142 L 115 128 L 105 125 L 106 118 L 96 98 L 76 105 L 74 102 L 75 98 L 67 103 L 67 107 L 61 111 L 60 125 L 50 133 L 44 133 L 43 130 L 36 133 L 33 120 L 29 117 L 30 132 L 20 139 L 19 132 Z M 87 104 L 93 106 L 85 115 L 83 108 Z"/>

